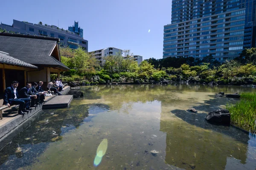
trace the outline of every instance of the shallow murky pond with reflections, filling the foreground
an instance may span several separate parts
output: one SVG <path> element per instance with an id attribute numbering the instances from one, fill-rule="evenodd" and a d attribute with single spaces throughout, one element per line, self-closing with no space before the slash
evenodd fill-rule
<path id="1" fill-rule="evenodd" d="M 69 108 L 44 110 L 3 147 L 0 169 L 254 170 L 256 139 L 207 123 L 210 111 L 237 99 L 216 93 L 256 91 L 210 85 L 98 85 Z M 195 108 L 198 113 L 186 111 Z M 99 165 L 96 151 L 108 142 Z M 151 150 L 159 153 L 152 155 Z"/>

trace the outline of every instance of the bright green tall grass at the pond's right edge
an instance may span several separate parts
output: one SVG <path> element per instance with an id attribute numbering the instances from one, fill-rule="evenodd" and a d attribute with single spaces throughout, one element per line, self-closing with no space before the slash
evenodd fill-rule
<path id="1" fill-rule="evenodd" d="M 240 102 L 228 104 L 231 123 L 256 133 L 256 93 L 242 93 Z"/>

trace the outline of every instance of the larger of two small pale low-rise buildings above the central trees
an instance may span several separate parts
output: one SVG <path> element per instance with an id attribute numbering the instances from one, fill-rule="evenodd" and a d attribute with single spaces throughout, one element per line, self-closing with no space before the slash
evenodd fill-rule
<path id="1" fill-rule="evenodd" d="M 90 53 L 92 53 L 96 57 L 96 59 L 102 60 L 106 56 L 116 55 L 117 53 L 122 54 L 122 50 L 115 47 L 108 47 L 96 51 L 91 51 Z"/>

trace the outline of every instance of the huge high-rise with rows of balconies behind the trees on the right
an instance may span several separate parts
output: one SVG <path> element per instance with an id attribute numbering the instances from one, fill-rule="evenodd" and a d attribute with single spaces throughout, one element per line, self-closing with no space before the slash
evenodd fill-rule
<path id="1" fill-rule="evenodd" d="M 244 45 L 242 0 L 172 0 L 172 24 L 164 26 L 163 58 L 238 57 Z"/>

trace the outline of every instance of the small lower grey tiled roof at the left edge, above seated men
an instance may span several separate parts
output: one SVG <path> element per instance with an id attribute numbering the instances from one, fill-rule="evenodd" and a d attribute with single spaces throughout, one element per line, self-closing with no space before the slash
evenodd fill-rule
<path id="1" fill-rule="evenodd" d="M 8 53 L 2 52 L 2 51 L 0 51 L 0 63 L 17 65 L 22 67 L 38 68 L 35 65 L 23 62 L 19 59 L 15 59 L 14 57 L 9 56 Z"/>

